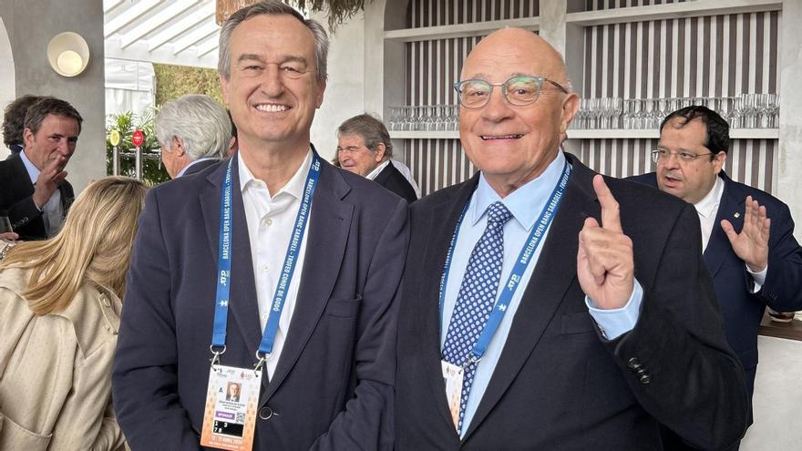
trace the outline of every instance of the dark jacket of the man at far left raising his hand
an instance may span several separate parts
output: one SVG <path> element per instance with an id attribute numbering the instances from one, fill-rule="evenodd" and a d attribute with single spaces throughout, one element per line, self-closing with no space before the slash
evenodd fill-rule
<path id="1" fill-rule="evenodd" d="M 75 200 L 75 191 L 67 180 L 58 185 L 58 190 L 61 192 L 61 208 L 67 215 L 69 206 Z M 19 154 L 0 161 L 0 214 L 6 211 L 11 228 L 22 241 L 47 238 L 45 220 L 42 211 L 36 208 L 33 195 L 34 185 Z"/>

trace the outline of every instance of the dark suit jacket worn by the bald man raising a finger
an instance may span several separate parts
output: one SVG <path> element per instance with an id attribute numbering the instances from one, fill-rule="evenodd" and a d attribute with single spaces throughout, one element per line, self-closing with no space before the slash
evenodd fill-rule
<path id="1" fill-rule="evenodd" d="M 659 422 L 703 447 L 743 434 L 744 373 L 725 343 L 702 256 L 687 245 L 701 239 L 693 207 L 605 178 L 643 286 L 634 329 L 607 341 L 576 276 L 582 224 L 589 216 L 601 221 L 593 172 L 566 157 L 573 172 L 560 210 L 462 441 L 440 370 L 438 289 L 478 175 L 412 205 L 399 306 L 396 449 L 662 449 Z"/>

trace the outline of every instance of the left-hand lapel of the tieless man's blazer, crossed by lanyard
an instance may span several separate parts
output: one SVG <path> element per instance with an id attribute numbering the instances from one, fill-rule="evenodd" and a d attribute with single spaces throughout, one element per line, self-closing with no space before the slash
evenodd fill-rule
<path id="1" fill-rule="evenodd" d="M 253 267 L 251 264 L 251 240 L 248 235 L 248 222 L 245 218 L 245 208 L 242 204 L 242 190 L 240 190 L 240 173 L 238 157 L 233 157 L 231 167 L 231 302 L 229 303 L 229 321 L 227 333 L 231 335 L 233 329 L 242 333 L 242 341 L 247 347 L 248 355 L 255 362 L 256 349 L 262 340 L 262 331 L 259 324 L 259 307 L 256 302 L 256 282 L 253 281 Z M 206 235 L 209 241 L 211 255 L 217 261 L 220 246 L 220 208 L 221 190 L 225 179 L 228 164 L 221 164 L 207 177 L 209 184 L 206 190 L 200 193 L 200 209 L 203 212 L 203 222 L 206 225 Z M 233 322 L 231 322 L 233 318 Z M 232 327 L 236 324 L 236 327 Z M 222 357 L 223 361 L 225 357 Z M 226 364 L 223 362 L 223 364 Z M 266 375 L 266 374 L 265 374 Z M 267 377 L 263 380 L 266 381 Z M 266 382 L 265 382 L 266 384 Z"/>

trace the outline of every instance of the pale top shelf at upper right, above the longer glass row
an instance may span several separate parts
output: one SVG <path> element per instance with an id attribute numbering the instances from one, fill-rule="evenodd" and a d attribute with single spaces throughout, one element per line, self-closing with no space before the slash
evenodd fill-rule
<path id="1" fill-rule="evenodd" d="M 649 20 L 776 11 L 782 0 L 698 0 L 667 5 L 631 6 L 583 13 L 569 13 L 565 21 L 581 26 L 624 24 Z"/>

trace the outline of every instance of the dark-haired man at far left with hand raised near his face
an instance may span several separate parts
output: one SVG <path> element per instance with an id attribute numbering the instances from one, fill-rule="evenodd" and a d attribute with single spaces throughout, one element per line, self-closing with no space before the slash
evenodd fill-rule
<path id="1" fill-rule="evenodd" d="M 55 97 L 41 97 L 27 109 L 25 149 L 0 161 L 0 215 L 8 216 L 20 240 L 45 240 L 61 230 L 75 200 L 65 167 L 83 120 Z"/>

